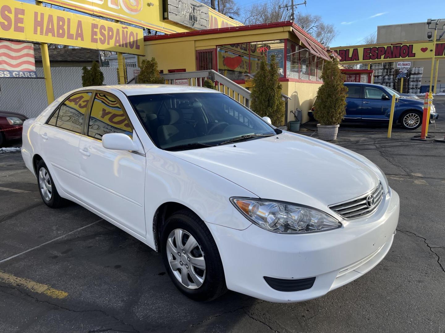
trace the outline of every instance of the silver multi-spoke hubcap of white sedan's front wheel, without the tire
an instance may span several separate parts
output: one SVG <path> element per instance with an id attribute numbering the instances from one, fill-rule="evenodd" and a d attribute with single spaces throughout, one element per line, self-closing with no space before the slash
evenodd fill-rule
<path id="1" fill-rule="evenodd" d="M 204 254 L 186 230 L 175 229 L 167 238 L 167 258 L 174 276 L 189 289 L 198 289 L 206 278 Z"/>

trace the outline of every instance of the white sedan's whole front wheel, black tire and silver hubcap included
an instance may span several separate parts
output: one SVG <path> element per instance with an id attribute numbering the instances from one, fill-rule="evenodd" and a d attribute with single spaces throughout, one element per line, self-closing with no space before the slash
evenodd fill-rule
<path id="1" fill-rule="evenodd" d="M 205 223 L 189 210 L 171 215 L 162 230 L 161 253 L 174 285 L 195 301 L 227 291 L 223 263 Z"/>

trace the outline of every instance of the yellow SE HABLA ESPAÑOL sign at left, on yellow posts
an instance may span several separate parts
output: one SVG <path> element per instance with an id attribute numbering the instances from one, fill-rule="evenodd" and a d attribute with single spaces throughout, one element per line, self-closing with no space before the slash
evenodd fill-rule
<path id="1" fill-rule="evenodd" d="M 142 29 L 14 0 L 1 0 L 0 36 L 144 55 Z"/>

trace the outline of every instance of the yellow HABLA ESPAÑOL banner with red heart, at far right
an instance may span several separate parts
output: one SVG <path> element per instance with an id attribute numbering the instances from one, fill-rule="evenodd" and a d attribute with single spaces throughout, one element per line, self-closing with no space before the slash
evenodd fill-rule
<path id="1" fill-rule="evenodd" d="M 371 44 L 332 48 L 340 56 L 340 63 L 378 63 L 400 60 L 427 60 L 433 57 L 433 43 L 429 41 L 392 44 Z M 434 54 L 445 58 L 445 41 L 438 41 Z"/>

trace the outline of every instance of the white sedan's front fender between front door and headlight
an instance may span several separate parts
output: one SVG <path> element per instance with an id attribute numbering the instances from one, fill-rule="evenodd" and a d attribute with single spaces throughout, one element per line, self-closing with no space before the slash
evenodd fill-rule
<path id="1" fill-rule="evenodd" d="M 205 148 L 206 149 L 206 148 Z M 192 210 L 204 222 L 244 230 L 251 226 L 230 202 L 231 197 L 258 198 L 245 188 L 170 155 L 158 148 L 146 154 L 146 242 L 155 248 L 153 222 L 158 208 L 177 202 Z"/>

